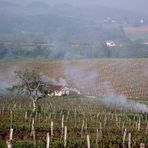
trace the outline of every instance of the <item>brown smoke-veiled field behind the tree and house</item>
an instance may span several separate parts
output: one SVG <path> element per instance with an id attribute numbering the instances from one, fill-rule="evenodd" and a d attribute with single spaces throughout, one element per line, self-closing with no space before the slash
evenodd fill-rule
<path id="1" fill-rule="evenodd" d="M 11 81 L 15 81 L 13 71 L 34 67 L 40 67 L 54 81 L 65 79 L 69 86 L 76 87 L 83 94 L 102 96 L 110 88 L 128 98 L 148 98 L 148 59 L 28 60 L 1 63 L 1 84 L 8 87 Z"/>

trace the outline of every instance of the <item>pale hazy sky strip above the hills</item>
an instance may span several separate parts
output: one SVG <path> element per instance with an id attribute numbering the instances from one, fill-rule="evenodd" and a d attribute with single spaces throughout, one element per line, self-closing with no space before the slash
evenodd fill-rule
<path id="1" fill-rule="evenodd" d="M 0 0 L 1 1 L 1 0 Z M 19 4 L 30 3 L 32 1 L 48 2 L 49 4 L 69 3 L 72 5 L 103 5 L 107 7 L 140 10 L 148 12 L 148 0 L 3 0 L 11 1 Z"/>

